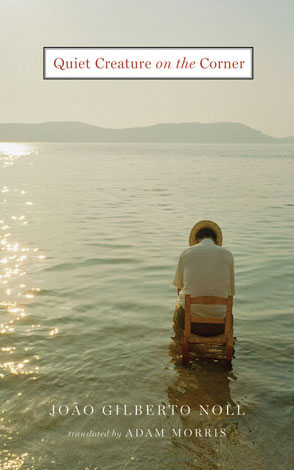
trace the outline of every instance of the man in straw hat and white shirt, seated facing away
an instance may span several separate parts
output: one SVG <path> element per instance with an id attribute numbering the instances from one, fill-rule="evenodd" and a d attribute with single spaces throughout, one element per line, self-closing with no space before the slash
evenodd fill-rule
<path id="1" fill-rule="evenodd" d="M 174 324 L 180 329 L 185 325 L 185 294 L 192 297 L 235 295 L 234 259 L 232 253 L 222 248 L 222 232 L 211 220 L 201 220 L 191 230 L 190 248 L 179 258 L 174 285 L 178 290 L 178 304 L 174 312 Z M 225 306 L 191 305 L 191 313 L 199 316 L 223 317 Z M 201 336 L 224 333 L 224 325 L 192 323 L 191 332 Z"/>

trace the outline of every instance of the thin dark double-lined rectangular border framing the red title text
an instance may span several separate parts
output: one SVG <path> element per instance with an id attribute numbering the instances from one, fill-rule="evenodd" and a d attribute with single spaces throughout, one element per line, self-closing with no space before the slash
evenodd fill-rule
<path id="1" fill-rule="evenodd" d="M 231 77 L 231 78 L 228 78 L 228 77 L 205 77 L 205 78 L 201 78 L 201 77 L 195 77 L 195 78 L 191 78 L 191 77 L 178 77 L 178 78 L 164 78 L 164 77 L 149 77 L 149 78 L 137 78 L 137 77 L 122 77 L 122 78 L 119 78 L 119 77 L 112 77 L 112 78 L 105 78 L 105 77 L 78 77 L 78 78 L 74 78 L 74 77 L 64 77 L 64 78 L 53 78 L 53 77 L 46 77 L 46 66 L 45 66 L 45 51 L 46 49 L 251 49 L 252 53 L 251 53 L 251 77 L 248 77 L 248 78 L 241 78 L 241 77 Z M 62 46 L 44 46 L 43 47 L 43 80 L 254 80 L 254 47 L 253 46 L 215 46 L 215 47 L 212 47 L 212 46 L 208 46 L 208 47 L 205 47 L 205 46 L 196 46 L 196 47 L 193 47 L 193 46 L 188 46 L 188 47 L 185 47 L 185 46 L 177 46 L 177 47 L 172 47 L 172 46 L 134 46 L 134 47 L 131 47 L 131 46 L 126 46 L 126 47 L 123 47 L 123 46 L 117 46 L 117 47 L 114 47 L 114 46 L 90 46 L 90 47 L 87 47 L 87 46 L 77 46 L 77 47 L 73 47 L 73 46 L 65 46 L 65 47 L 62 47 Z"/>

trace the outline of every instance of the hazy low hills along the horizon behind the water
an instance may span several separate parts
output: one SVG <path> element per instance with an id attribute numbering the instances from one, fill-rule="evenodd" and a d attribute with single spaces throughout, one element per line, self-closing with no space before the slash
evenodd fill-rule
<path id="1" fill-rule="evenodd" d="M 294 137 L 276 138 L 241 123 L 155 124 L 107 129 L 82 122 L 0 124 L 0 142 L 137 142 L 137 143 L 294 143 Z"/>

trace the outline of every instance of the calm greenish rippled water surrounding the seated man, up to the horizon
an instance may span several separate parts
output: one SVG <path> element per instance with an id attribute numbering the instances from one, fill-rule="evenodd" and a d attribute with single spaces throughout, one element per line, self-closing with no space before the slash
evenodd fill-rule
<path id="1" fill-rule="evenodd" d="M 293 151 L 0 144 L 1 469 L 293 468 Z M 172 279 L 200 219 L 235 257 L 231 370 L 182 368 L 171 338 Z M 227 404 L 235 415 L 199 413 Z"/>

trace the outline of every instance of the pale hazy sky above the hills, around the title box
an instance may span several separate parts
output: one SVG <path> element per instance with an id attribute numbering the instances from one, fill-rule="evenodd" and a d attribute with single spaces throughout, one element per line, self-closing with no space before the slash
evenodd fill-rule
<path id="1" fill-rule="evenodd" d="M 294 135 L 292 0 L 1 0 L 0 122 L 242 122 Z M 254 80 L 43 80 L 43 46 L 253 46 Z"/>

